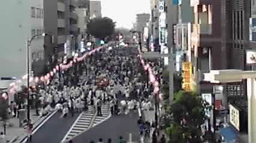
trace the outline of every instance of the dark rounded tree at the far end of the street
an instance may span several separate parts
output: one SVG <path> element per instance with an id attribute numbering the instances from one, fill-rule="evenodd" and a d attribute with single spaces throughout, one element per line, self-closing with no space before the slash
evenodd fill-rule
<path id="1" fill-rule="evenodd" d="M 115 23 L 108 17 L 93 18 L 87 24 L 87 28 L 92 36 L 104 40 L 115 32 Z"/>

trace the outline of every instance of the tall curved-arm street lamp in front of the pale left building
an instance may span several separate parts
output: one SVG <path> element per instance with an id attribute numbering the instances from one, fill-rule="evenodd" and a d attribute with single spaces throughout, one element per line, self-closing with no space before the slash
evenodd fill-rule
<path id="1" fill-rule="evenodd" d="M 39 35 L 34 35 L 34 36 L 32 36 L 31 39 L 28 39 L 28 41 L 27 41 L 26 48 L 27 48 L 27 64 L 28 64 L 28 67 L 27 67 L 27 70 L 28 70 L 27 71 L 27 74 L 28 74 L 28 82 L 27 82 L 27 86 L 28 86 L 27 119 L 28 119 L 28 121 L 30 120 L 30 104 L 29 104 L 29 79 L 30 79 L 30 77 L 29 77 L 29 49 L 31 48 L 31 43 L 32 43 L 32 41 L 34 40 L 35 37 L 37 37 L 37 36 L 47 36 L 47 35 L 49 35 L 49 33 L 42 33 L 42 34 L 39 34 Z"/>

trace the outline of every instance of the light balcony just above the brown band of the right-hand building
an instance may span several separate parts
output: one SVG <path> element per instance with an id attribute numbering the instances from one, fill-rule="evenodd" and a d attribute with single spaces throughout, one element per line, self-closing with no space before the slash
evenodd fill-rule
<path id="1" fill-rule="evenodd" d="M 212 24 L 193 24 L 192 33 L 196 33 L 198 35 L 211 35 Z"/>

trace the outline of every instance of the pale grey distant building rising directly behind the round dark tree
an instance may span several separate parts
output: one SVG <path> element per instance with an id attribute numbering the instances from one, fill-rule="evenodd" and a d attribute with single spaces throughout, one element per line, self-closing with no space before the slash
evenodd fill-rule
<path id="1" fill-rule="evenodd" d="M 90 1 L 90 17 L 102 17 L 101 1 Z"/>

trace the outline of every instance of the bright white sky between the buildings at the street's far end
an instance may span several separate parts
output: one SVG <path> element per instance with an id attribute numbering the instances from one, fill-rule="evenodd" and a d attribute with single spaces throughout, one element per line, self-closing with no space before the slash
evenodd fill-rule
<path id="1" fill-rule="evenodd" d="M 150 12 L 150 0 L 100 0 L 101 13 L 116 21 L 116 27 L 131 29 L 136 14 Z"/>

